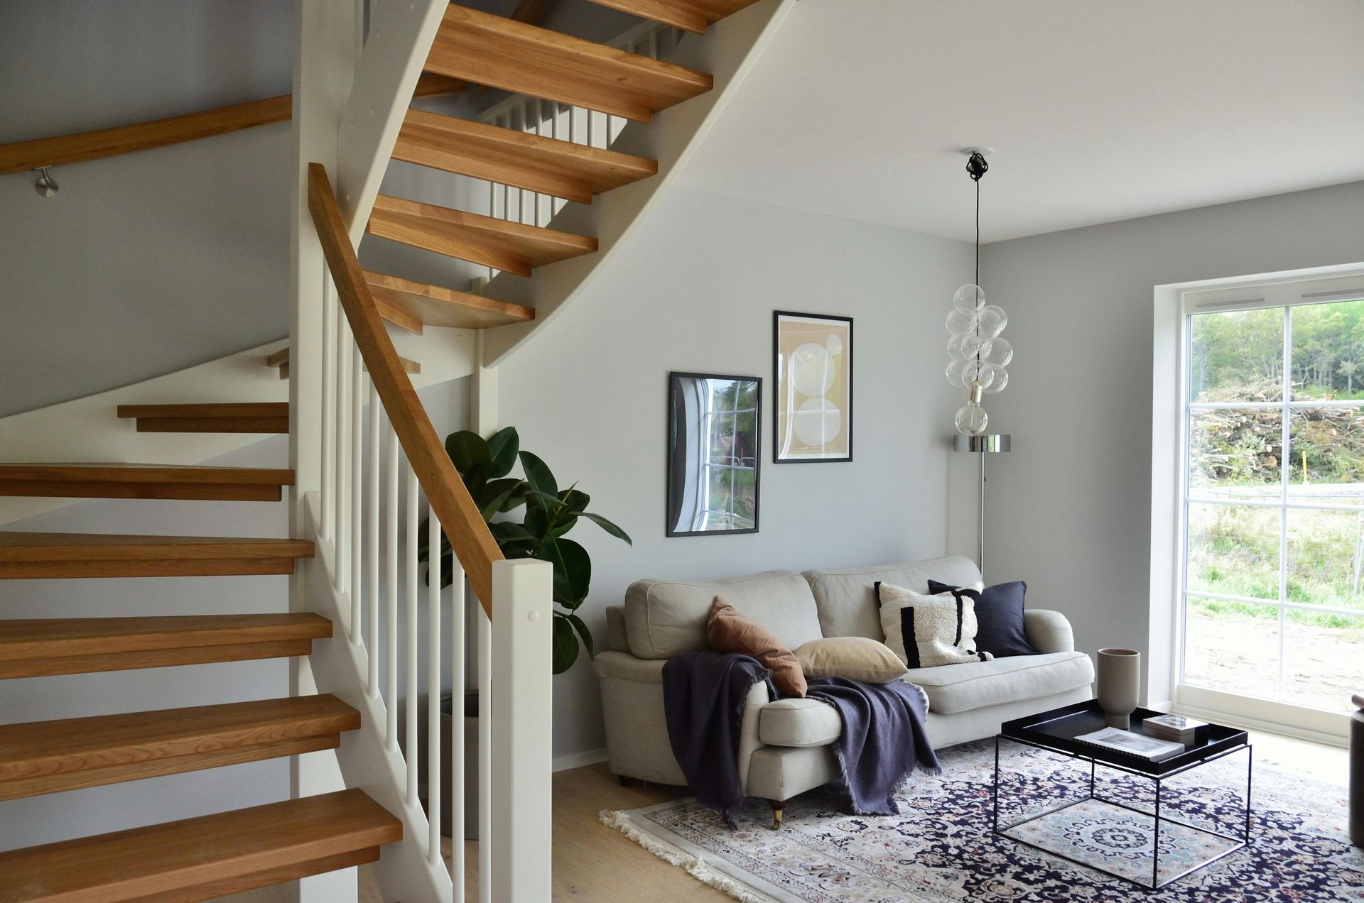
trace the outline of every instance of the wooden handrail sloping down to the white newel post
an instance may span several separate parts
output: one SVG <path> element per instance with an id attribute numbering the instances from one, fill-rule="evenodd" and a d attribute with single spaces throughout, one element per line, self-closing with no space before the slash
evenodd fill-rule
<path id="1" fill-rule="evenodd" d="M 346 233 L 341 207 L 337 205 L 331 181 L 322 164 L 308 164 L 308 211 L 322 241 L 322 252 L 337 286 L 337 297 L 345 311 L 355 344 L 360 348 L 379 401 L 389 415 L 408 462 L 426 490 L 435 517 L 450 539 L 450 546 L 464 565 L 464 572 L 477 593 L 483 610 L 492 617 L 492 562 L 502 561 L 492 532 L 481 512 L 464 488 L 460 473 L 431 426 L 426 408 L 417 398 L 412 381 L 402 370 L 393 340 L 379 319 L 378 307 L 364 271 L 356 259 L 355 247 Z M 439 554 L 436 550 L 434 554 Z"/>

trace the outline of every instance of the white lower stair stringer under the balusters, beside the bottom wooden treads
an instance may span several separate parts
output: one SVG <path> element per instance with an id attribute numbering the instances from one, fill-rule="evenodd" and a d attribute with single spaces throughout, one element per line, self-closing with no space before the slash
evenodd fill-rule
<path id="1" fill-rule="evenodd" d="M 293 599 L 291 611 L 322 615 L 336 627 L 330 640 L 314 641 L 312 653 L 300 660 L 300 664 L 308 672 L 314 692 L 331 693 L 360 712 L 360 728 L 344 734 L 341 746 L 336 750 L 345 786 L 363 790 L 402 820 L 402 840 L 382 847 L 382 855 L 372 866 L 375 877 L 385 900 L 451 903 L 454 884 L 445 859 L 432 865 L 424 851 L 430 835 L 426 810 L 420 802 L 409 805 L 406 799 L 408 778 L 402 750 L 389 747 L 383 698 L 378 693 L 366 693 L 366 649 L 348 640 L 351 597 L 338 593 L 331 582 L 336 550 L 316 529 L 321 522 L 318 494 L 308 492 L 304 505 L 310 521 L 308 539 L 316 544 L 316 557 L 299 562 L 297 573 L 301 580 L 297 582 L 301 584 L 303 593 Z"/>

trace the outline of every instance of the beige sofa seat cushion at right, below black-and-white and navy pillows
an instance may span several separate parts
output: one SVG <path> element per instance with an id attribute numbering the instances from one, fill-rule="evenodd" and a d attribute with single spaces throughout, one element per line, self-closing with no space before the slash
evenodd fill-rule
<path id="1" fill-rule="evenodd" d="M 903 679 L 928 693 L 933 712 L 951 715 L 1087 686 L 1094 681 L 1094 663 L 1083 652 L 1019 655 L 913 668 Z"/>

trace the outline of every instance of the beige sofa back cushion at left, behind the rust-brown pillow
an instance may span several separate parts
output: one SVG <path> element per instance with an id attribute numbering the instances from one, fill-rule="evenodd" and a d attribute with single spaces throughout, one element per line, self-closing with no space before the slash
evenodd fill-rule
<path id="1" fill-rule="evenodd" d="M 671 659 L 709 648 L 705 621 L 716 596 L 771 630 L 787 649 L 822 636 L 810 585 L 788 570 L 704 582 L 637 580 L 625 591 L 630 652 L 637 659 Z"/>

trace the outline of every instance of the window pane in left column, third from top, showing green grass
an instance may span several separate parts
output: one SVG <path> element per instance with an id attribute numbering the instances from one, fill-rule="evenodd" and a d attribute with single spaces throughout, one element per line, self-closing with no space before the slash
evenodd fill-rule
<path id="1" fill-rule="evenodd" d="M 1279 509 L 1189 505 L 1188 588 L 1278 602 Z"/>

